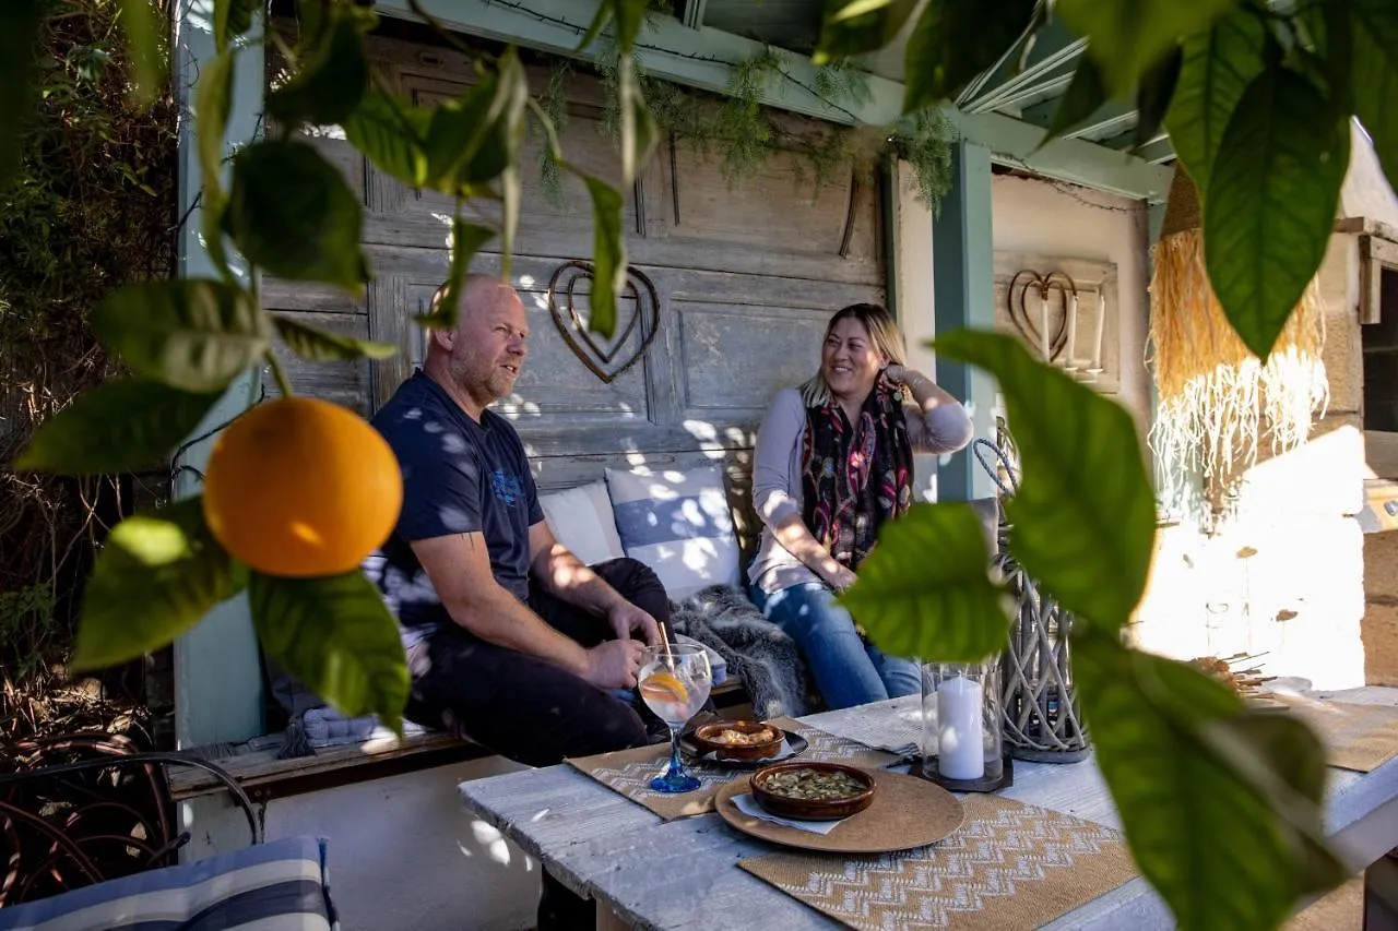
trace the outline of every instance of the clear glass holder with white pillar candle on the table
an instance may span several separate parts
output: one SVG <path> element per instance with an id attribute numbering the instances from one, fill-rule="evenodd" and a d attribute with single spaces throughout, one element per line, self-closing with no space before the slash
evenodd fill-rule
<path id="1" fill-rule="evenodd" d="M 1000 657 L 984 663 L 923 664 L 923 760 L 937 781 L 1000 783 L 1004 732 Z"/>

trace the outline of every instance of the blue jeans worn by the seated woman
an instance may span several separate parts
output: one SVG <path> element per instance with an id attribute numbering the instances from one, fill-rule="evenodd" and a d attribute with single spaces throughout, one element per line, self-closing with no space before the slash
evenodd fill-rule
<path id="1" fill-rule="evenodd" d="M 917 663 L 865 646 L 850 612 L 819 582 L 766 594 L 752 586 L 752 602 L 801 650 L 830 710 L 881 702 L 923 691 Z"/>

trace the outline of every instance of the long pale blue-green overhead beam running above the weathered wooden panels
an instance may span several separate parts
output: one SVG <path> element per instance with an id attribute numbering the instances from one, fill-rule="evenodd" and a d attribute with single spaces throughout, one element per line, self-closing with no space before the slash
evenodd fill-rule
<path id="1" fill-rule="evenodd" d="M 424 8 L 445 25 L 468 35 L 498 42 L 593 60 L 596 48 L 579 50 L 577 43 L 587 31 L 601 0 L 422 0 Z M 375 8 L 393 17 L 415 20 L 408 0 L 379 0 Z M 733 66 L 765 52 L 768 46 L 712 27 L 691 29 L 679 20 L 657 17 L 651 28 L 643 31 L 637 57 L 642 67 L 654 77 L 726 94 L 733 78 Z M 815 94 L 818 68 L 811 60 L 773 49 L 787 75 L 773 82 L 762 96 L 762 103 L 793 113 L 802 113 L 846 126 L 889 126 L 902 115 L 903 85 L 878 75 L 867 80 L 868 99 L 832 106 Z M 1048 49 L 1035 67 L 1061 67 L 1081 53 L 1081 49 Z M 1032 56 L 1032 60 L 1033 59 Z M 1050 62 L 1055 64 L 1050 66 Z M 1085 143 L 1062 140 L 1035 151 L 1043 131 L 1001 113 L 960 113 L 948 109 L 962 137 L 988 148 L 993 158 L 1007 165 L 1060 180 L 1102 187 L 1127 197 L 1163 200 L 1169 190 L 1169 171 Z"/>

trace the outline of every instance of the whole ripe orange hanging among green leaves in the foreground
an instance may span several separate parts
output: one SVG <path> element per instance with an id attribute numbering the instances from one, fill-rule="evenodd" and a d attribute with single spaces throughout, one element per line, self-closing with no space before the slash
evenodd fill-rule
<path id="1" fill-rule="evenodd" d="M 270 576 L 350 572 L 383 544 L 403 472 L 379 431 L 308 397 L 260 404 L 214 443 L 204 519 L 239 562 Z"/>

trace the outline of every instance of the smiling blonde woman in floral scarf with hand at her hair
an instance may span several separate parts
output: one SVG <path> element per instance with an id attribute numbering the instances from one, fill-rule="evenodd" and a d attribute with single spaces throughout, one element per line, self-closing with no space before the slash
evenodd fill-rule
<path id="1" fill-rule="evenodd" d="M 952 453 L 970 439 L 966 410 L 905 365 L 898 326 L 872 303 L 830 317 L 821 370 L 768 408 L 752 477 L 762 542 L 748 579 L 754 602 L 797 642 L 826 707 L 920 691 L 917 665 L 867 644 L 835 597 L 884 521 L 911 506 L 913 453 Z"/>

